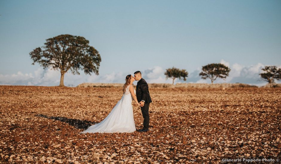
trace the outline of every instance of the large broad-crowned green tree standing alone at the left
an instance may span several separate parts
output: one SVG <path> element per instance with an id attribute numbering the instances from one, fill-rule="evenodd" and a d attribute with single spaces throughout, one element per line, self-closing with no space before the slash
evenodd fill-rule
<path id="1" fill-rule="evenodd" d="M 99 52 L 92 46 L 89 41 L 81 36 L 58 35 L 54 38 L 46 39 L 45 45 L 34 49 L 29 53 L 35 62 L 46 68 L 59 70 L 61 73 L 59 86 L 64 86 L 63 78 L 65 73 L 70 69 L 72 74 L 78 74 L 79 69 L 84 70 L 85 74 L 94 72 L 99 74 L 101 62 Z"/>

